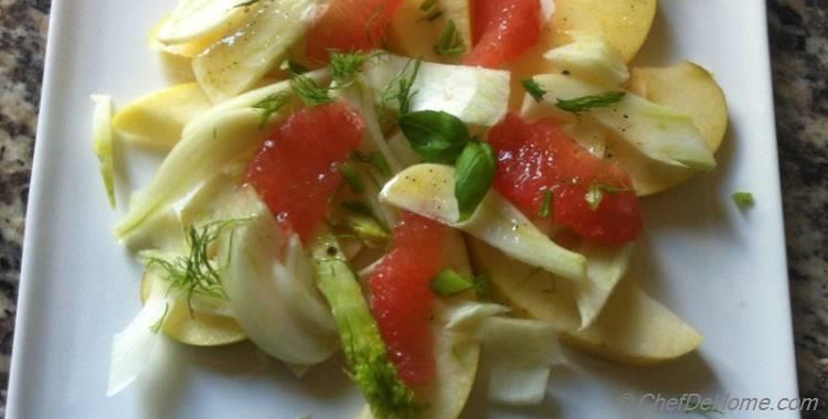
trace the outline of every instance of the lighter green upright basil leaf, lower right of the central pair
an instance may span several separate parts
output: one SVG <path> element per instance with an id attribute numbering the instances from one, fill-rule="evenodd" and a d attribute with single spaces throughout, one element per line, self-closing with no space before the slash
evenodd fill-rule
<path id="1" fill-rule="evenodd" d="M 497 171 L 495 150 L 487 142 L 469 142 L 456 166 L 454 196 L 463 222 L 475 213 L 491 187 Z"/>

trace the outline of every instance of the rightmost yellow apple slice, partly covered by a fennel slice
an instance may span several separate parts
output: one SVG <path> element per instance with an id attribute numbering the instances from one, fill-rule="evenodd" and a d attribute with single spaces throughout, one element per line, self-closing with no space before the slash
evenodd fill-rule
<path id="1" fill-rule="evenodd" d="M 628 88 L 647 100 L 689 116 L 711 151 L 722 144 L 728 131 L 728 103 L 722 88 L 701 66 L 681 62 L 662 68 L 635 67 Z M 638 195 L 668 190 L 698 173 L 649 161 L 622 141 L 611 141 L 607 147 L 607 155 L 633 178 Z"/>

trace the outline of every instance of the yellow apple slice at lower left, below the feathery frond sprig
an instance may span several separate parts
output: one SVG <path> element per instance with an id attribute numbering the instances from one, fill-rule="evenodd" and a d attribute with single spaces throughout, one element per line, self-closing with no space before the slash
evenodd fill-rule
<path id="1" fill-rule="evenodd" d="M 144 273 L 141 302 L 147 301 L 152 283 L 157 280 L 155 273 Z M 247 339 L 238 323 L 231 318 L 202 311 L 194 311 L 190 315 L 187 301 L 173 304 L 167 313 L 162 331 L 178 342 L 194 346 L 229 345 Z"/>

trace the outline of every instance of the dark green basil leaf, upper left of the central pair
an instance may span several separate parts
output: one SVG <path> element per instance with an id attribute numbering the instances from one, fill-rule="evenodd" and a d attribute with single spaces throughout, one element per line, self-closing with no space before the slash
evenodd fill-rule
<path id="1" fill-rule="evenodd" d="M 444 111 L 411 112 L 397 122 L 414 151 L 429 163 L 453 163 L 469 142 L 466 125 Z"/>

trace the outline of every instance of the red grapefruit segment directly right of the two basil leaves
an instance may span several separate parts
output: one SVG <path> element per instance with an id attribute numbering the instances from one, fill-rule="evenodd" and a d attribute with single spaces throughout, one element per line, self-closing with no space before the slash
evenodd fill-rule
<path id="1" fill-rule="evenodd" d="M 631 241 L 641 233 L 629 176 L 594 157 L 554 120 L 527 123 L 509 114 L 491 129 L 489 142 L 498 153 L 495 186 L 524 214 L 541 213 L 549 201 L 555 223 L 605 245 Z"/>

